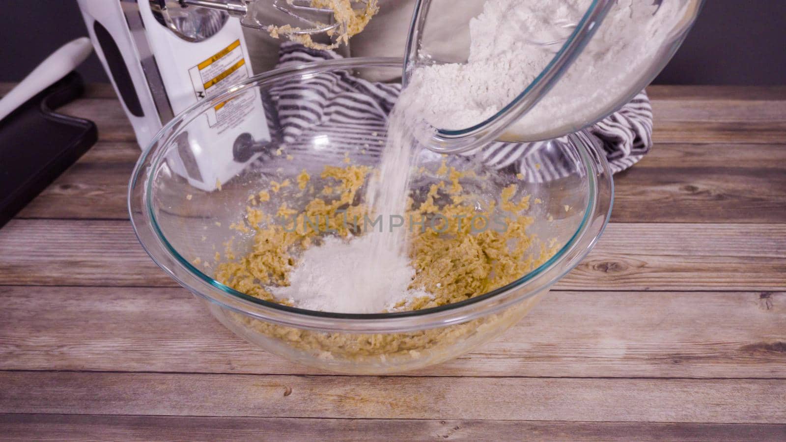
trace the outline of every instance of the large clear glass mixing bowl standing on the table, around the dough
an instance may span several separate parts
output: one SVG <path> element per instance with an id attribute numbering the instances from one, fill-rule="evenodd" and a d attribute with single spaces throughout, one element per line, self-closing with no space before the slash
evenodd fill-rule
<path id="1" fill-rule="evenodd" d="M 528 209 L 534 221 L 527 234 L 554 245 L 547 260 L 489 293 L 417 311 L 342 314 L 268 302 L 214 278 L 216 263 L 211 260 L 216 251 L 226 260 L 227 245 L 236 256 L 252 246 L 253 234 L 230 225 L 243 220 L 249 196 L 270 180 L 294 183 L 303 169 L 318 175 L 325 165 L 343 167 L 351 160 L 373 166 L 379 161 L 380 149 L 371 146 L 384 142 L 384 122 L 371 133 L 360 126 L 347 128 L 347 133 L 368 138 L 368 143 L 351 144 L 332 126 L 332 113 L 323 111 L 332 105 L 338 106 L 333 110 L 351 109 L 352 99 L 362 99 L 331 87 L 337 78 L 351 80 L 355 90 L 362 91 L 373 84 L 364 78 L 395 78 L 401 65 L 400 59 L 354 58 L 279 68 L 205 98 L 174 118 L 142 153 L 129 185 L 131 222 L 152 260 L 204 300 L 211 314 L 237 335 L 296 363 L 348 374 L 387 374 L 439 363 L 469 352 L 521 319 L 586 256 L 608 221 L 612 175 L 602 146 L 585 132 L 540 145 L 537 152 L 547 153 L 549 164 L 535 164 L 531 170 L 489 167 L 486 178 L 465 183 L 492 190 L 517 183 L 514 198 L 531 195 L 540 202 Z M 217 142 L 219 138 L 200 130 L 216 106 L 250 94 L 263 99 L 266 122 L 246 120 L 238 123 L 241 130 L 244 124 L 250 131 L 266 124 L 274 141 L 254 142 L 241 135 L 235 142 Z M 390 94 L 390 103 L 394 96 Z M 287 116 L 294 111 L 310 112 L 311 120 L 292 124 Z M 178 157 L 206 151 L 216 164 L 222 153 L 233 152 L 245 166 L 219 189 L 200 189 L 178 172 Z M 443 160 L 456 168 L 486 168 L 478 166 L 477 157 L 443 157 L 427 149 L 423 153 L 422 164 L 428 168 Z M 434 179 L 423 173 L 413 187 L 428 188 Z M 302 204 L 296 198 L 281 201 L 279 195 L 271 192 L 264 207 L 275 211 L 281 202 L 293 208 Z"/>

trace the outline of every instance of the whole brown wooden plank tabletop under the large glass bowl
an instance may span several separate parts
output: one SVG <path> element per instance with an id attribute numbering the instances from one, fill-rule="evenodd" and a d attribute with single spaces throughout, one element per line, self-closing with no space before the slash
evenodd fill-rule
<path id="1" fill-rule="evenodd" d="M 786 439 L 786 87 L 649 91 L 655 148 L 530 315 L 355 377 L 242 341 L 152 263 L 139 148 L 91 86 L 65 110 L 99 142 L 0 229 L 0 439 Z"/>

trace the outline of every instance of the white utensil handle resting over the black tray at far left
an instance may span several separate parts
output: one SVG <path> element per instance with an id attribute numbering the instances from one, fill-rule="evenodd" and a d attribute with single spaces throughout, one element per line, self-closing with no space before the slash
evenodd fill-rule
<path id="1" fill-rule="evenodd" d="M 6 118 L 25 101 L 63 78 L 68 72 L 73 71 L 92 51 L 93 45 L 87 37 L 75 39 L 54 51 L 17 84 L 17 87 L 0 99 L 0 120 Z"/>

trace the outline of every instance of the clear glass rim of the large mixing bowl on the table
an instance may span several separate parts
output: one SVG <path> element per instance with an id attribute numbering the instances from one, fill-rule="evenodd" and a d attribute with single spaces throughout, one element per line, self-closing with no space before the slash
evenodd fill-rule
<path id="1" fill-rule="evenodd" d="M 256 319 L 311 330 L 391 333 L 446 326 L 490 315 L 549 289 L 564 274 L 578 265 L 578 262 L 592 249 L 611 215 L 614 192 L 612 172 L 603 154 L 602 146 L 586 131 L 568 135 L 578 150 L 589 182 L 587 207 L 581 223 L 571 238 L 549 260 L 515 281 L 454 304 L 415 311 L 373 314 L 311 311 L 289 307 L 251 297 L 216 281 L 194 267 L 189 260 L 185 260 L 167 241 L 156 222 L 152 208 L 152 184 L 154 171 L 165 159 L 169 151 L 167 146 L 170 145 L 171 140 L 179 134 L 178 128 L 185 127 L 205 109 L 215 104 L 269 83 L 333 70 L 395 68 L 401 65 L 401 58 L 354 57 L 285 66 L 249 77 L 244 82 L 211 94 L 208 98 L 180 112 L 152 138 L 141 153 L 130 177 L 127 199 L 129 215 L 134 233 L 145 252 L 178 284 L 198 297 Z"/>

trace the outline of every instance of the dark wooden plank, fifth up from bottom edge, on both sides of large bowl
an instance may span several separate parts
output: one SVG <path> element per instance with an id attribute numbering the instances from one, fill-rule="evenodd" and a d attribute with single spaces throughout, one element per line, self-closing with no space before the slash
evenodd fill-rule
<path id="1" fill-rule="evenodd" d="M 135 143 L 100 142 L 20 218 L 127 219 Z M 786 145 L 657 145 L 615 176 L 612 221 L 786 222 Z"/>

